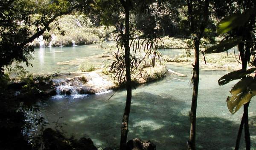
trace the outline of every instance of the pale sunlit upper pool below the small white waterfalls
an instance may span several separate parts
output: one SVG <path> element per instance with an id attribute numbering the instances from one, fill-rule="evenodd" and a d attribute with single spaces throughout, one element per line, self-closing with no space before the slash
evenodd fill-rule
<path id="1" fill-rule="evenodd" d="M 70 47 L 41 47 L 35 49 L 34 59 L 30 61 L 33 67 L 26 67 L 26 70 L 34 74 L 74 72 L 78 70 L 78 66 L 57 65 L 57 62 L 98 55 L 103 52 L 104 49 L 96 44 Z"/>

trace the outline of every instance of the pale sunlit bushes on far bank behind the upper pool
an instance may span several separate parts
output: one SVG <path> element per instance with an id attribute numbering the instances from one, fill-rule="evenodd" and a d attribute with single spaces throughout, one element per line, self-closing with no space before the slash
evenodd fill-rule
<path id="1" fill-rule="evenodd" d="M 47 46 L 50 43 L 51 46 L 71 46 L 73 41 L 76 45 L 101 43 L 105 40 L 111 40 L 111 32 L 113 31 L 112 27 L 94 27 L 90 20 L 81 14 L 64 15 L 49 26 L 51 31 L 47 34 L 50 35 L 50 38 L 44 41 Z M 61 35 L 59 29 L 65 34 Z M 34 40 L 33 45 L 39 46 L 39 41 Z"/>

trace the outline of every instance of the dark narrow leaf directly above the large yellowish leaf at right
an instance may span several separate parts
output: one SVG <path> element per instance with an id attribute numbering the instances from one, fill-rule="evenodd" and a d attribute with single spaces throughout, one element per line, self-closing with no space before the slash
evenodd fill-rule
<path id="1" fill-rule="evenodd" d="M 245 75 L 251 74 L 255 71 L 255 68 L 250 68 L 248 70 L 240 69 L 233 72 L 228 73 L 227 75 L 222 76 L 218 80 L 219 86 L 225 85 L 229 83 L 230 81 L 237 80 L 243 78 Z"/>

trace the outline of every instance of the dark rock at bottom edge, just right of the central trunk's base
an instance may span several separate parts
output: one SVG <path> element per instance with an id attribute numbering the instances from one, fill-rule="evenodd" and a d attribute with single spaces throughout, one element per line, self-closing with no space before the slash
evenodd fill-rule
<path id="1" fill-rule="evenodd" d="M 156 150 L 156 145 L 151 141 L 142 141 L 134 138 L 127 142 L 127 150 Z"/>

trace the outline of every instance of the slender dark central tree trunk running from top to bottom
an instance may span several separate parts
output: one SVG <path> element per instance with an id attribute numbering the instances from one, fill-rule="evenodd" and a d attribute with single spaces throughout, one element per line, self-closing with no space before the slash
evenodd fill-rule
<path id="1" fill-rule="evenodd" d="M 122 1 L 125 9 L 125 35 L 124 35 L 124 46 L 125 46 L 125 71 L 126 71 L 126 104 L 125 112 L 122 118 L 121 127 L 121 139 L 120 139 L 120 150 L 126 150 L 126 141 L 128 135 L 128 121 L 131 110 L 131 70 L 130 70 L 130 48 L 129 48 L 129 37 L 130 37 L 130 24 L 129 24 L 129 0 Z"/>

